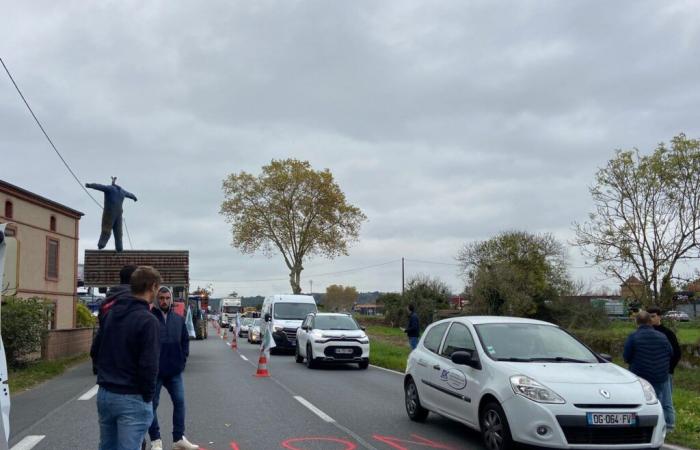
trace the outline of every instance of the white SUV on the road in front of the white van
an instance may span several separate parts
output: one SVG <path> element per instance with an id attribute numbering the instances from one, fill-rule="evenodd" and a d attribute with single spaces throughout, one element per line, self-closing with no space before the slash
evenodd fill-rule
<path id="1" fill-rule="evenodd" d="M 296 360 L 309 369 L 321 362 L 369 366 L 369 338 L 348 314 L 312 313 L 297 330 Z"/>

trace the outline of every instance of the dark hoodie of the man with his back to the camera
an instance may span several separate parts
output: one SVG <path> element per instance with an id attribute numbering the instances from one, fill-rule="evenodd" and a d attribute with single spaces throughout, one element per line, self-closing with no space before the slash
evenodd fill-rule
<path id="1" fill-rule="evenodd" d="M 104 320 L 94 346 L 97 384 L 116 394 L 153 399 L 160 357 L 158 320 L 148 303 L 128 295 L 117 300 Z"/>

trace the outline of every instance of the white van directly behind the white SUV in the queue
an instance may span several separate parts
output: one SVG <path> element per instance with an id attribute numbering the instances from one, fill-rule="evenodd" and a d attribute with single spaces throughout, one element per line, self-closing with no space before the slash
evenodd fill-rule
<path id="1" fill-rule="evenodd" d="M 310 313 L 318 312 L 316 301 L 310 295 L 271 295 L 265 297 L 262 307 L 262 333 L 271 327 L 275 345 L 280 349 L 295 349 L 297 328 Z M 263 334 L 264 336 L 264 334 Z"/>

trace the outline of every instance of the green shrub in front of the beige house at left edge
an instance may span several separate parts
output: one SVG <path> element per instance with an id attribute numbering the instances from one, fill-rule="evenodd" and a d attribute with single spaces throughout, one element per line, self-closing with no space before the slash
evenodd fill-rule
<path id="1" fill-rule="evenodd" d="M 22 365 L 27 355 L 41 350 L 47 331 L 47 305 L 39 298 L 6 297 L 2 302 L 2 337 L 10 367 Z"/>

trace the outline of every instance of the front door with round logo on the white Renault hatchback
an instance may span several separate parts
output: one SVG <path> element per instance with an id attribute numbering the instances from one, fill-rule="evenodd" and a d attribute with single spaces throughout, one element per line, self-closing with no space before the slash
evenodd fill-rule
<path id="1" fill-rule="evenodd" d="M 480 369 L 457 365 L 451 360 L 456 351 L 476 352 L 474 338 L 466 325 L 452 322 L 440 347 L 437 366 L 433 370 L 431 382 L 435 387 L 439 406 L 446 414 L 470 424 L 477 423 L 476 398 L 479 389 Z M 474 399 L 474 400 L 472 400 Z"/>

